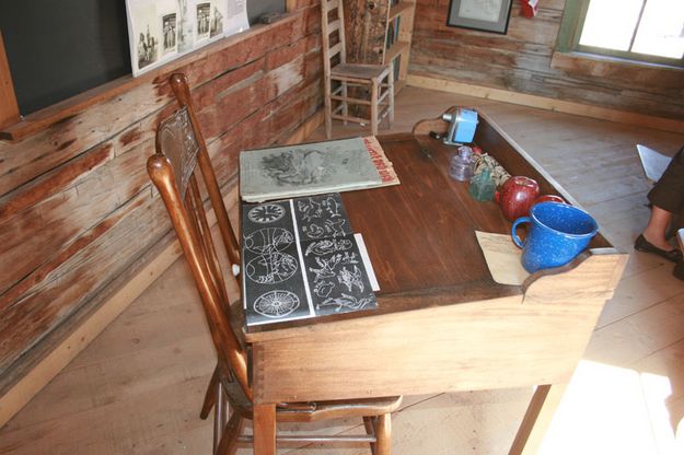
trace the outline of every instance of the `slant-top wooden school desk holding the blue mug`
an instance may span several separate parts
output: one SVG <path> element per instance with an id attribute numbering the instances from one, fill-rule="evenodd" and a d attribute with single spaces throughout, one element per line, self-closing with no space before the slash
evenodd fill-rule
<path id="1" fill-rule="evenodd" d="M 492 281 L 474 230 L 510 229 L 448 176 L 453 150 L 427 136 L 380 138 L 401 186 L 343 195 L 378 275 L 379 310 L 251 329 L 255 453 L 275 454 L 279 401 L 540 385 L 510 453 L 534 453 L 627 255 L 598 235 L 571 266 L 522 287 Z M 476 143 L 543 194 L 567 195 L 480 114 Z"/>

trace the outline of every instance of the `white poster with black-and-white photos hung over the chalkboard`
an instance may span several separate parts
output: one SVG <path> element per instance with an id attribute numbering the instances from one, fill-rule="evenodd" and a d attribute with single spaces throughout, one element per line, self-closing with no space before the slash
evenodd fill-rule
<path id="1" fill-rule="evenodd" d="M 250 28 L 245 0 L 126 0 L 134 77 Z"/>

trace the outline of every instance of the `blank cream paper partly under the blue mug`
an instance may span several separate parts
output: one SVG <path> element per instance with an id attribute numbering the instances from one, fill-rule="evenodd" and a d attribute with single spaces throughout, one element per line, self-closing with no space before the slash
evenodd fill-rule
<path id="1" fill-rule="evenodd" d="M 520 285 L 530 273 L 520 262 L 521 249 L 511 236 L 475 231 L 479 247 L 483 249 L 491 278 L 499 284 Z"/>

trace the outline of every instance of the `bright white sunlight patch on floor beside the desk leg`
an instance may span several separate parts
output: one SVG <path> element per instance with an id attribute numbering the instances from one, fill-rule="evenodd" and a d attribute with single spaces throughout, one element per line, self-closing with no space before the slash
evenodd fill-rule
<path id="1" fill-rule="evenodd" d="M 541 454 L 682 454 L 684 423 L 668 409 L 670 380 L 581 361 Z"/>

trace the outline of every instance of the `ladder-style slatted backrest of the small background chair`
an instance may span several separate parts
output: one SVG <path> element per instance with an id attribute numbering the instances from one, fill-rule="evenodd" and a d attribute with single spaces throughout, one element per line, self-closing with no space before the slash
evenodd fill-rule
<path id="1" fill-rule="evenodd" d="M 321 31 L 323 68 L 329 74 L 331 67 L 347 62 L 343 0 L 321 0 Z"/>

